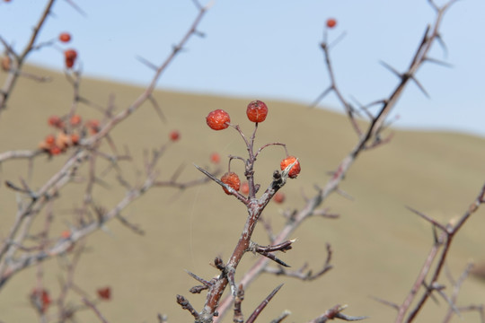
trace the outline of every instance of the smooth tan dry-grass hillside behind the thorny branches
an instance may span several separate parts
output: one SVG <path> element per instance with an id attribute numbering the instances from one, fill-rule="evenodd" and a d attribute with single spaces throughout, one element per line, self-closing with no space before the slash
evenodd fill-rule
<path id="1" fill-rule="evenodd" d="M 50 74 L 50 83 L 35 83 L 21 79 L 13 92 L 10 108 L 0 118 L 0 152 L 12 149 L 34 149 L 48 134 L 47 118 L 64 114 L 72 102 L 72 90 L 62 74 L 30 67 L 35 74 Z M 0 74 L 0 81 L 4 74 Z M 142 91 L 127 84 L 84 79 L 82 94 L 104 105 L 110 94 L 115 105 L 125 108 Z M 169 179 L 183 164 L 181 179 L 202 176 L 192 163 L 209 164 L 209 154 L 244 155 L 245 147 L 234 129 L 215 132 L 208 129 L 205 117 L 212 109 L 225 109 L 242 130 L 251 131 L 245 117 L 250 100 L 265 98 L 227 98 L 182 92 L 155 93 L 166 122 L 157 117 L 149 105 L 137 111 L 113 132 L 121 149 L 129 147 L 134 160 L 123 164 L 128 178 L 135 179 L 143 169 L 143 152 L 168 141 L 172 129 L 181 132 L 181 140 L 171 145 L 160 164 L 160 178 Z M 284 220 L 282 210 L 300 207 L 304 196 L 311 195 L 314 185 L 323 186 L 328 172 L 357 141 L 348 120 L 333 112 L 308 109 L 300 104 L 266 100 L 269 117 L 260 124 L 257 144 L 286 143 L 291 154 L 298 156 L 302 172 L 290 180 L 283 192 L 287 201 L 272 204 L 264 216 L 278 230 Z M 401 114 L 406 107 L 398 105 Z M 81 105 L 83 116 L 100 118 L 99 112 Z M 438 113 L 438 111 L 437 111 Z M 431 227 L 406 209 L 409 205 L 423 213 L 450 221 L 468 208 L 485 180 L 485 139 L 471 135 L 445 132 L 392 130 L 393 137 L 373 151 L 359 156 L 343 181 L 341 189 L 353 197 L 333 195 L 326 201 L 332 213 L 340 219 L 312 218 L 304 223 L 292 238 L 294 249 L 281 256 L 289 265 L 299 267 L 308 262 L 315 269 L 325 259 L 325 243 L 334 250 L 334 268 L 312 283 L 271 275 L 262 275 L 246 292 L 242 308 L 246 314 L 274 287 L 284 283 L 273 301 L 263 311 L 260 321 L 270 321 L 282 310 L 293 314 L 288 322 L 313 319 L 335 304 L 348 304 L 349 315 L 365 315 L 369 322 L 391 322 L 395 311 L 372 299 L 372 296 L 401 303 L 418 275 L 420 266 L 433 242 Z M 146 138 L 149 138 L 147 140 Z M 261 153 L 257 162 L 256 179 L 265 188 L 273 170 L 278 169 L 283 156 L 280 148 Z M 34 161 L 32 187 L 40 186 L 62 164 L 66 155 L 49 160 L 41 156 Z M 10 161 L 1 165 L 0 237 L 13 223 L 16 194 L 4 186 L 6 179 L 27 177 L 28 163 Z M 242 165 L 234 163 L 242 176 Z M 83 171 L 83 170 L 82 170 Z M 109 177 L 110 175 L 108 175 Z M 72 185 L 54 204 L 55 225 L 60 234 L 66 228 L 69 210 L 80 203 L 83 186 Z M 123 196 L 117 186 L 95 188 L 101 205 L 110 207 Z M 244 207 L 232 196 L 226 196 L 215 183 L 180 191 L 174 188 L 154 188 L 123 213 L 137 223 L 145 236 L 139 236 L 119 222 L 106 225 L 89 238 L 87 252 L 76 270 L 75 283 L 85 291 L 110 285 L 112 300 L 99 308 L 112 322 L 155 322 L 157 313 L 165 313 L 169 321 L 190 322 L 187 311 L 175 302 L 176 294 L 189 297 L 197 309 L 204 298 L 188 290 L 196 282 L 184 269 L 210 278 L 216 269 L 209 266 L 220 255 L 226 259 L 239 238 L 245 221 Z M 40 225 L 38 223 L 37 225 Z M 449 258 L 454 277 L 466 264 L 485 261 L 485 210 L 474 214 L 460 231 Z M 267 244 L 260 229 L 255 238 Z M 246 257 L 239 270 L 251 266 L 256 256 Z M 58 292 L 61 259 L 44 264 L 49 291 Z M 0 292 L 0 322 L 35 322 L 28 295 L 35 284 L 36 268 L 30 268 L 6 284 Z M 445 277 L 445 276 L 444 276 Z M 237 277 L 236 277 L 237 278 Z M 445 279 L 442 279 L 446 283 Z M 450 292 L 450 291 L 446 291 Z M 74 299 L 73 299 L 74 300 Z M 485 302 L 485 283 L 470 277 L 458 299 L 460 305 Z M 418 322 L 437 322 L 443 318 L 447 304 L 444 300 L 428 301 Z M 78 322 L 96 322 L 90 310 L 79 313 Z M 226 321 L 231 321 L 227 318 Z M 463 313 L 463 320 L 478 322 L 476 312 Z"/>

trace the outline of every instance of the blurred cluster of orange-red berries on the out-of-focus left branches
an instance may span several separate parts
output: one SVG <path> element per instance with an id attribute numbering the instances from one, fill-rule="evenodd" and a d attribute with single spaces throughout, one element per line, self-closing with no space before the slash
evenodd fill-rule
<path id="1" fill-rule="evenodd" d="M 83 125 L 83 119 L 79 115 L 73 115 L 68 120 L 52 116 L 48 118 L 48 125 L 57 129 L 57 135 L 47 135 L 40 142 L 39 148 L 51 156 L 64 153 L 69 147 L 79 144 L 80 134 L 84 134 L 86 130 L 92 135 L 100 130 L 98 120 L 88 120 Z"/>

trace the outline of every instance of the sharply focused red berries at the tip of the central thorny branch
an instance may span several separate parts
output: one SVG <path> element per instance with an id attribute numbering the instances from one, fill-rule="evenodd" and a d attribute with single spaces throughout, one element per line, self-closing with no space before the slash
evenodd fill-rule
<path id="1" fill-rule="evenodd" d="M 246 115 L 251 122 L 254 122 L 256 124 L 256 128 L 257 128 L 258 123 L 263 122 L 268 116 L 268 106 L 266 105 L 266 103 L 260 100 L 253 100 L 248 104 L 248 107 L 246 109 Z M 206 118 L 206 122 L 207 122 L 207 126 L 213 130 L 217 130 L 217 131 L 224 130 L 229 126 L 232 126 L 237 131 L 239 131 L 242 135 L 242 132 L 239 126 L 231 125 L 230 123 L 231 118 L 229 117 L 229 114 L 223 109 L 216 109 L 214 111 L 209 112 Z M 256 129 L 254 131 L 256 131 Z M 252 137 L 254 137 L 254 135 L 255 133 L 253 134 Z M 242 135 L 242 137 L 244 138 L 244 135 Z M 250 143 L 246 139 L 244 140 L 248 145 L 248 150 L 252 151 L 252 141 Z M 211 156 L 211 161 L 217 163 L 219 162 L 219 160 L 220 160 L 219 155 L 216 153 L 213 153 Z M 291 168 L 288 169 L 288 167 L 291 167 Z M 287 156 L 285 159 L 283 159 L 283 161 L 280 162 L 280 169 L 287 170 L 288 178 L 295 179 L 301 170 L 300 162 L 294 156 Z M 241 184 L 241 179 L 239 179 L 239 176 L 231 170 L 228 170 L 222 176 L 221 181 L 227 187 L 232 188 L 235 192 L 238 192 L 241 188 L 242 194 L 244 195 L 249 194 L 250 190 L 249 190 L 248 182 L 243 182 Z M 225 194 L 227 195 L 234 194 L 233 190 L 229 190 L 226 187 L 223 187 L 223 189 L 225 191 Z M 277 203 L 283 203 L 283 201 L 285 200 L 285 196 L 282 193 L 280 193 L 279 195 L 274 196 L 274 200 Z"/>

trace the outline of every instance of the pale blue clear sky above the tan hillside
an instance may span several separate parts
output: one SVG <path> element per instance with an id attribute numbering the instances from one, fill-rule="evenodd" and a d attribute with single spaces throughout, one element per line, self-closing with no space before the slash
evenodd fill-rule
<path id="1" fill-rule="evenodd" d="M 438 4 L 444 1 L 436 0 Z M 161 63 L 197 14 L 191 0 L 77 0 L 86 16 L 57 0 L 40 39 L 69 31 L 84 74 L 143 85 L 152 71 L 136 57 Z M 47 1 L 0 3 L 0 35 L 22 48 Z M 207 4 L 203 2 L 202 4 Z M 442 28 L 447 55 L 433 55 L 454 65 L 424 65 L 419 81 L 430 99 L 410 84 L 394 114 L 397 127 L 456 130 L 485 136 L 485 1 L 458 1 Z M 341 91 L 362 103 L 384 98 L 397 80 L 380 60 L 403 71 L 434 12 L 427 0 L 216 0 L 199 30 L 159 83 L 161 88 L 236 95 L 252 99 L 293 100 L 310 104 L 328 77 L 319 43 L 327 18 L 344 39 L 332 49 Z M 57 48 L 32 53 L 32 63 L 61 70 Z M 322 105 L 339 109 L 328 97 Z"/>

